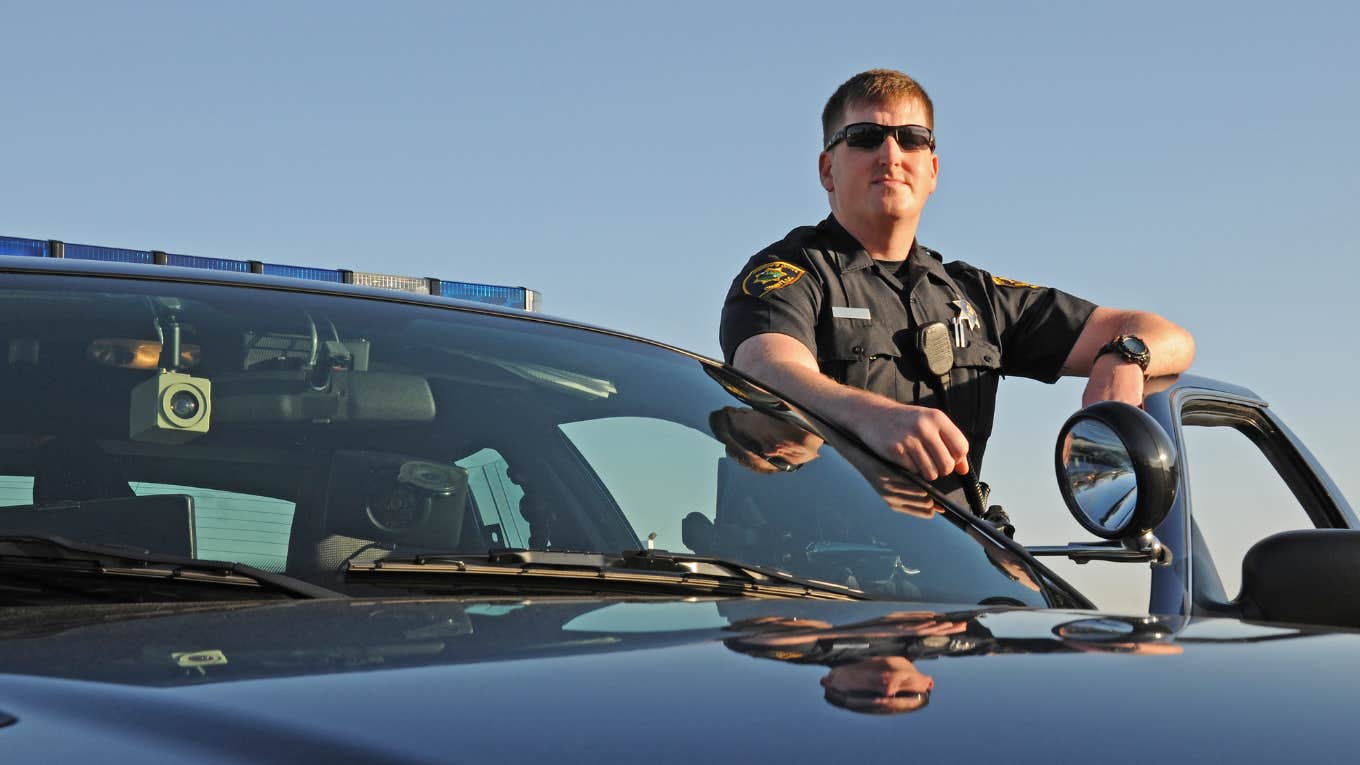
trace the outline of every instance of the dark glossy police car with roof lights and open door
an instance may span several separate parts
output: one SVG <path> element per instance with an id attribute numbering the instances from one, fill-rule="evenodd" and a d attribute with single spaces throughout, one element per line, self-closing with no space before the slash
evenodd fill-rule
<path id="1" fill-rule="evenodd" d="M 817 412 L 529 290 L 58 244 L 0 240 L 15 761 L 1348 751 L 1355 516 L 1250 392 L 1074 415 L 1058 493 L 1099 539 L 1027 550 Z M 1232 599 L 1182 483 L 1205 423 L 1323 527 L 1254 546 Z M 1152 570 L 1152 615 L 1043 555 Z"/>

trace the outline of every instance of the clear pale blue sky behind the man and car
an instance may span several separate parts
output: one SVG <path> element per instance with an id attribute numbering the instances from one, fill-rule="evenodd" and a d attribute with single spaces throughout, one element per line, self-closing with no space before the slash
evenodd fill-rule
<path id="1" fill-rule="evenodd" d="M 0 0 L 0 235 L 525 286 L 718 355 L 732 278 L 827 212 L 826 98 L 891 67 L 936 103 L 922 244 L 1182 324 L 1193 372 L 1357 500 L 1356 29 L 1307 1 Z M 1002 385 L 985 478 L 1025 542 L 1081 538 L 1050 456 L 1080 391 Z"/>

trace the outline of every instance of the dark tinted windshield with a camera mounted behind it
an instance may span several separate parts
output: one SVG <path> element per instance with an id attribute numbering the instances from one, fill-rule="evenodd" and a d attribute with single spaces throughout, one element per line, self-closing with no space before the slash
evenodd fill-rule
<path id="1" fill-rule="evenodd" d="M 351 564 L 653 547 L 874 598 L 1046 604 L 1039 572 L 904 474 L 722 368 L 636 340 L 39 275 L 4 278 L 0 327 L 0 534 L 348 592 Z"/>

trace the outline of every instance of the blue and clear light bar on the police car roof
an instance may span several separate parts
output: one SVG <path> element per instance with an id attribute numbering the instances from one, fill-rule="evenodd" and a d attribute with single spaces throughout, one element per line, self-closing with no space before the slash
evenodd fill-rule
<path id="1" fill-rule="evenodd" d="M 518 308 L 524 310 L 537 310 L 543 299 L 539 293 L 525 287 L 449 282 L 420 276 L 345 271 L 340 268 L 313 268 L 310 265 L 260 263 L 258 260 L 234 260 L 230 257 L 174 255 L 158 249 L 143 250 L 94 245 L 69 245 L 57 240 L 0 237 L 0 256 L 69 257 L 72 260 L 144 263 L 151 265 L 177 265 L 180 268 L 203 268 L 207 271 L 231 271 L 235 274 L 265 274 L 269 276 L 284 276 L 288 279 L 306 279 L 309 282 L 330 282 L 333 284 L 352 283 L 366 287 L 413 293 L 418 295 L 439 295 L 506 308 Z"/>

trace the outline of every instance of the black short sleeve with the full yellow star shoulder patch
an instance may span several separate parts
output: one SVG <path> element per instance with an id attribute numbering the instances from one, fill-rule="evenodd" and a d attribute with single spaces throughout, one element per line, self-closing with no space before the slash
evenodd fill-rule
<path id="1" fill-rule="evenodd" d="M 722 304 L 718 342 L 724 361 L 732 363 L 741 343 L 767 332 L 787 335 L 816 355 L 820 310 L 821 286 L 801 252 L 756 255 L 732 280 Z"/>

